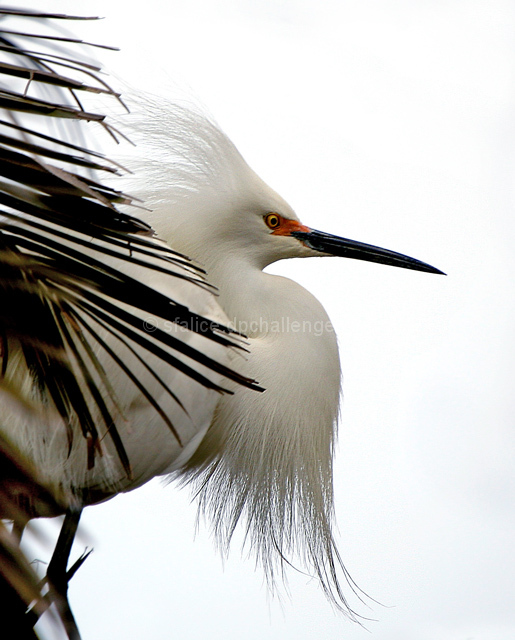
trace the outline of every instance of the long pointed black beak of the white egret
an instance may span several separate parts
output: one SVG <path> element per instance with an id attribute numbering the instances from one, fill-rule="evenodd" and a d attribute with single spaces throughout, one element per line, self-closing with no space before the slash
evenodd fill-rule
<path id="1" fill-rule="evenodd" d="M 414 269 L 415 271 L 426 271 L 427 273 L 441 273 L 440 269 L 435 269 L 425 262 L 415 260 L 402 253 L 381 249 L 372 244 L 356 242 L 348 238 L 339 238 L 323 231 L 292 231 L 291 235 L 303 242 L 310 249 L 320 251 L 332 256 L 342 258 L 354 258 L 355 260 L 366 260 L 367 262 L 379 262 L 389 264 L 392 267 L 402 267 L 403 269 Z"/>

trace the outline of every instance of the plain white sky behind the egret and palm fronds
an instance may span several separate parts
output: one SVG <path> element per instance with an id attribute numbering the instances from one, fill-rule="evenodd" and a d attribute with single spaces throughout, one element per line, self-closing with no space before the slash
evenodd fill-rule
<path id="1" fill-rule="evenodd" d="M 83 640 L 513 640 L 513 3 L 43 5 L 105 16 L 76 30 L 122 48 L 99 55 L 129 84 L 189 85 L 306 224 L 449 274 L 273 269 L 339 336 L 340 550 L 386 605 L 356 604 L 368 631 L 294 572 L 269 598 L 237 545 L 224 568 L 187 493 L 155 482 L 86 510 Z"/>

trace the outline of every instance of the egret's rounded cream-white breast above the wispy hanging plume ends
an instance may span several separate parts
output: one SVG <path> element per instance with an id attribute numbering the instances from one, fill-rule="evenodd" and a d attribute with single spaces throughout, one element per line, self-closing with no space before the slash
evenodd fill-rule
<path id="1" fill-rule="evenodd" d="M 266 283 L 269 290 L 257 296 L 261 309 L 252 311 L 244 303 L 241 314 L 233 307 L 230 316 L 249 343 L 249 353 L 235 354 L 233 366 L 258 380 L 265 391 L 233 386 L 234 395 L 220 398 L 194 464 L 217 455 L 227 462 L 233 456 L 241 468 L 246 459 L 259 457 L 257 451 L 270 457 L 274 448 L 283 451 L 284 459 L 287 451 L 297 451 L 300 466 L 307 457 L 315 464 L 315 458 L 329 456 L 340 395 L 334 329 L 308 291 L 285 278 L 267 277 L 274 279 Z"/>

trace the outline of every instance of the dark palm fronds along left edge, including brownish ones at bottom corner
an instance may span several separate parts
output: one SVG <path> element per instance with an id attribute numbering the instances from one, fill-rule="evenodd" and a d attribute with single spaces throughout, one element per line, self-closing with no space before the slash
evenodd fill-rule
<path id="1" fill-rule="evenodd" d="M 83 101 L 96 95 L 124 105 L 86 58 L 88 47 L 100 45 L 52 31 L 56 21 L 76 19 L 92 18 L 0 7 L 0 396 L 29 414 L 37 413 L 38 403 L 54 407 L 67 426 L 70 449 L 70 425 L 79 424 L 88 468 L 100 451 L 100 431 L 107 434 L 130 477 L 114 417 L 122 412 L 100 360 L 118 367 L 179 442 L 145 383 L 152 379 L 185 411 L 156 362 L 220 393 L 225 389 L 210 379 L 210 371 L 216 380 L 221 375 L 260 388 L 170 332 L 144 330 L 142 319 L 152 316 L 178 322 L 222 348 L 244 348 L 232 329 L 145 284 L 154 273 L 211 289 L 200 268 L 159 242 L 146 223 L 119 210 L 131 204 L 130 196 L 103 182 L 123 168 L 89 148 L 85 127 L 100 127 L 115 141 L 123 136 Z M 147 378 L 124 363 L 124 352 Z M 12 376 L 20 354 L 29 395 Z M 62 513 L 70 505 L 58 488 L 44 484 L 1 426 L 0 516 L 14 523 L 11 531 L 0 522 L 2 633 L 16 629 L 17 638 L 37 638 L 32 627 L 48 604 L 16 533 L 35 515 Z"/>

